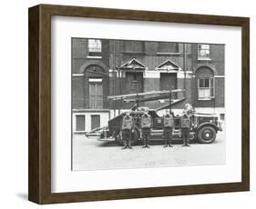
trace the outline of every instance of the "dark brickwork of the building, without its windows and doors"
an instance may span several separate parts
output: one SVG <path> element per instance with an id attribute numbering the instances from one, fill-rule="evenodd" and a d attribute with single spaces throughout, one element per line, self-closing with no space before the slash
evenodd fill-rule
<path id="1" fill-rule="evenodd" d="M 115 43 L 115 45 L 114 45 Z M 183 67 L 183 44 L 179 44 L 179 53 L 173 55 L 159 55 L 158 43 L 148 42 L 144 43 L 144 52 L 140 53 L 126 53 L 124 41 L 118 40 L 102 40 L 102 57 L 99 59 L 92 59 L 87 57 L 87 39 L 73 38 L 72 39 L 72 72 L 73 74 L 83 74 L 83 66 L 85 64 L 104 65 L 105 72 L 108 74 L 109 69 L 114 70 L 132 58 L 136 58 L 140 63 L 146 65 L 149 71 L 155 71 L 156 67 L 167 61 L 168 59 L 174 64 Z M 115 46 L 115 50 L 114 50 Z M 210 45 L 210 60 L 198 60 L 198 45 L 186 44 L 187 60 L 186 70 L 195 73 L 198 65 L 209 65 L 214 67 L 215 75 L 224 75 L 224 45 Z M 115 51 L 115 55 L 114 55 Z M 73 108 L 88 108 L 86 100 L 88 98 L 88 77 L 97 77 L 98 75 L 74 76 L 72 88 L 73 91 Z M 114 78 L 104 77 L 104 108 L 115 108 L 119 106 L 122 108 L 129 108 L 132 103 L 110 102 L 107 100 L 108 95 L 123 95 L 126 93 L 125 81 L 126 78 L 118 78 L 114 86 Z M 143 79 L 144 92 L 159 90 L 159 78 L 147 77 Z M 184 79 L 177 79 L 177 88 L 183 88 Z M 191 102 L 198 107 L 223 107 L 224 106 L 224 77 L 215 78 L 215 99 L 210 101 L 198 101 L 197 99 L 197 82 L 195 78 L 186 80 L 187 99 L 183 103 L 176 104 L 174 108 L 183 108 L 187 102 Z M 82 98 L 82 99 L 81 99 Z M 83 101 L 84 100 L 84 101 Z M 159 101 L 145 103 L 150 108 L 159 107 Z M 160 104 L 161 105 L 161 104 Z"/>

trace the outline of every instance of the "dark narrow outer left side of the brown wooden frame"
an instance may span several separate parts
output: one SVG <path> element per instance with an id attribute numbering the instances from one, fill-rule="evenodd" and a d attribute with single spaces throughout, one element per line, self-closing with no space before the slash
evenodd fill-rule
<path id="1" fill-rule="evenodd" d="M 28 21 L 28 199 L 39 203 L 39 6 Z"/>

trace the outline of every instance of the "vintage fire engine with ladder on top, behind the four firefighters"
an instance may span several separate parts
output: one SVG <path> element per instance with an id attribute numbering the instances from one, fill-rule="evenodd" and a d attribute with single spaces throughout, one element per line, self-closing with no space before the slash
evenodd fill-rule
<path id="1" fill-rule="evenodd" d="M 186 99 L 186 97 L 181 97 L 180 99 L 173 100 L 172 94 L 183 93 L 185 90 L 175 89 L 175 90 L 164 90 L 164 91 L 152 91 L 146 93 L 137 93 L 130 95 L 113 95 L 108 96 L 108 99 L 111 100 L 124 100 L 128 102 L 134 102 L 131 106 L 130 110 L 128 110 L 129 114 L 132 116 L 132 120 L 134 125 L 133 137 L 131 140 L 131 144 L 139 144 L 142 141 L 141 137 L 141 127 L 140 127 L 140 119 L 142 114 L 145 111 L 150 114 L 153 127 L 151 129 L 151 137 L 150 140 L 163 140 L 163 116 L 160 116 L 158 113 L 161 110 L 169 109 L 171 113 L 171 106 L 173 104 L 177 104 Z M 169 104 L 160 106 L 157 109 L 148 109 L 148 107 L 139 107 L 139 104 L 142 102 L 149 102 L 154 100 L 161 99 L 169 99 Z M 194 111 L 194 109 L 190 105 L 185 105 L 182 113 L 174 115 L 174 127 L 173 127 L 173 140 L 181 139 L 180 133 L 180 118 L 181 115 L 185 112 L 189 114 L 191 120 L 191 128 L 189 138 L 195 142 L 200 144 L 210 144 L 213 143 L 216 139 L 216 135 L 219 131 L 222 131 L 221 123 L 218 120 L 218 116 L 215 114 L 201 114 Z M 98 134 L 101 139 L 108 138 L 116 141 L 117 144 L 124 144 L 122 140 L 122 131 L 121 124 L 123 116 L 127 112 L 122 114 L 118 114 L 118 116 L 110 119 L 108 121 L 108 126 L 103 128 L 97 128 L 92 130 L 90 133 L 87 133 L 87 136 Z"/>

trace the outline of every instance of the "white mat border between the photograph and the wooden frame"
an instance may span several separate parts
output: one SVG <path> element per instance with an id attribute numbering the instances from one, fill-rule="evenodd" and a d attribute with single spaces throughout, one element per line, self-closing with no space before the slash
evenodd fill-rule
<path id="1" fill-rule="evenodd" d="M 71 37 L 224 44 L 226 164 L 72 171 Z M 241 182 L 241 27 L 53 16 L 51 57 L 53 193 Z"/>

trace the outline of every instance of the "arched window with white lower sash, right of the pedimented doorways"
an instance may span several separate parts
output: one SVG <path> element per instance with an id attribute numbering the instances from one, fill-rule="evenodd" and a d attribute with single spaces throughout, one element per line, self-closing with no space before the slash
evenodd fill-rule
<path id="1" fill-rule="evenodd" d="M 198 99 L 210 100 L 214 98 L 215 80 L 213 71 L 207 66 L 202 66 L 196 71 L 196 78 L 198 83 Z"/>

